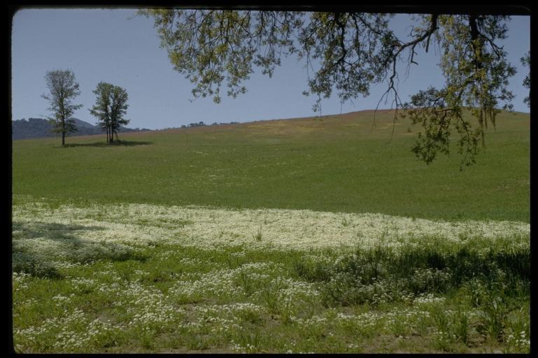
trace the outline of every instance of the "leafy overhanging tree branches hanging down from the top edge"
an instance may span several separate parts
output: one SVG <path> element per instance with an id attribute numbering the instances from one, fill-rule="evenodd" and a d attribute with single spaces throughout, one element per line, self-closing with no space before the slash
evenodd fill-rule
<path id="1" fill-rule="evenodd" d="M 161 8 L 139 14 L 153 18 L 162 47 L 174 69 L 193 83 L 195 97 L 212 96 L 218 103 L 223 85 L 228 96 L 243 94 L 253 66 L 272 76 L 282 57 L 292 55 L 308 69 L 303 93 L 317 96 L 315 110 L 334 91 L 344 102 L 386 83 L 380 102 L 392 99 L 394 122 L 403 109 L 422 126 L 412 150 L 428 164 L 448 153 L 453 134 L 462 165 L 474 163 L 488 122 L 495 126 L 499 108 L 512 108 L 507 87 L 516 70 L 498 44 L 506 38 L 509 16 L 414 15 L 404 37 L 389 27 L 393 15 L 387 13 Z M 444 87 L 402 101 L 396 65 L 417 65 L 418 50 L 429 52 L 434 44 L 441 49 Z"/>

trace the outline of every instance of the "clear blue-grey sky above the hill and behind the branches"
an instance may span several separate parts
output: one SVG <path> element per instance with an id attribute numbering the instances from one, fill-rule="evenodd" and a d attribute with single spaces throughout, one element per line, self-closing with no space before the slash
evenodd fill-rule
<path id="1" fill-rule="evenodd" d="M 193 84 L 174 71 L 153 20 L 135 15 L 135 9 L 61 9 L 27 8 L 13 17 L 11 47 L 12 120 L 50 115 L 45 73 L 53 69 L 71 69 L 80 85 L 81 95 L 74 103 L 83 108 L 74 117 L 95 124 L 88 108 L 95 103 L 97 83 L 108 82 L 125 88 L 129 95 L 127 119 L 130 128 L 164 129 L 203 121 L 251 122 L 319 115 L 312 110 L 316 98 L 304 96 L 307 71 L 294 57 L 284 59 L 272 78 L 259 71 L 245 83 L 247 94 L 236 99 L 222 96 L 221 103 L 210 98 L 194 99 Z M 408 15 L 396 15 L 394 29 L 405 30 Z M 406 31 L 408 32 L 408 31 Z M 530 17 L 513 16 L 509 38 L 500 42 L 509 62 L 518 73 L 510 80 L 516 94 L 514 110 L 528 112 L 523 103 L 528 90 L 523 78 L 528 69 L 520 64 L 530 49 Z M 430 85 L 441 87 L 443 77 L 437 66 L 439 51 L 419 52 L 418 66 L 405 76 L 401 65 L 398 90 L 403 101 Z M 322 100 L 322 115 L 373 109 L 378 105 L 386 84 L 371 87 L 371 94 L 341 104 L 338 96 Z M 226 89 L 223 89 L 226 92 Z M 389 108 L 390 101 L 380 103 Z"/>

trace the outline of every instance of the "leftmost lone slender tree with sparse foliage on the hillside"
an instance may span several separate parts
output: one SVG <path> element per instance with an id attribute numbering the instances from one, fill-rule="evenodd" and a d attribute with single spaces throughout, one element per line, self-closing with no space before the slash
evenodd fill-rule
<path id="1" fill-rule="evenodd" d="M 78 83 L 71 70 L 47 71 L 45 80 L 49 93 L 43 94 L 42 97 L 49 101 L 48 109 L 53 113 L 48 120 L 53 131 L 62 135 L 62 146 L 64 146 L 66 134 L 76 131 L 75 121 L 71 119 L 71 116 L 75 110 L 82 108 L 82 104 L 74 104 L 72 101 L 81 92 L 78 90 Z"/>

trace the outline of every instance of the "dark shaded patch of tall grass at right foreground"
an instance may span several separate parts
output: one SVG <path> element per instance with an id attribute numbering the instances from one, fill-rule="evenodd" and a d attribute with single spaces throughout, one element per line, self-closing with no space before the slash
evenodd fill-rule
<path id="1" fill-rule="evenodd" d="M 359 247 L 336 262 L 296 261 L 294 268 L 301 278 L 326 284 L 329 306 L 402 301 L 408 294 L 444 294 L 467 282 L 484 285 L 490 296 L 492 292 L 503 297 L 529 294 L 529 247 L 496 252 L 474 248 L 474 244 L 446 252 L 428 245 L 397 250 L 381 245 Z M 482 306 L 483 297 L 476 295 L 471 301 Z"/>

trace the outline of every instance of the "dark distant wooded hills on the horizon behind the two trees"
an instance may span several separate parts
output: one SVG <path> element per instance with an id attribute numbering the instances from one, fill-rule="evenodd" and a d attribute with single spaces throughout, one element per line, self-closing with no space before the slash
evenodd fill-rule
<path id="1" fill-rule="evenodd" d="M 72 118 L 75 121 L 76 129 L 75 133 L 69 134 L 69 136 L 91 136 L 93 134 L 104 134 L 104 131 L 93 124 L 79 120 L 78 118 Z M 128 131 L 149 131 L 151 129 L 136 128 L 131 129 L 127 127 L 121 127 L 119 133 L 125 133 Z M 14 120 L 11 122 L 11 138 L 15 139 L 27 139 L 27 138 L 43 138 L 53 137 L 56 134 L 50 132 L 50 124 L 48 120 L 42 118 L 28 118 L 25 120 Z"/>

